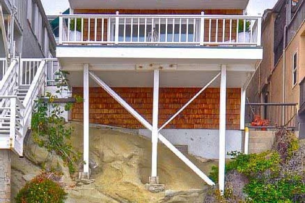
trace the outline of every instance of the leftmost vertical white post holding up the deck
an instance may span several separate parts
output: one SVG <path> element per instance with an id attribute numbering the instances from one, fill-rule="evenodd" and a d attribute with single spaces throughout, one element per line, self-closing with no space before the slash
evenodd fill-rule
<path id="1" fill-rule="evenodd" d="M 89 64 L 83 64 L 83 174 L 89 174 Z"/>

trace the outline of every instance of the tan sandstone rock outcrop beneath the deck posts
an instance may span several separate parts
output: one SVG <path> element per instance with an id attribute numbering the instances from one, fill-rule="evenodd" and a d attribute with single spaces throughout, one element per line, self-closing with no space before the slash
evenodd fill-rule
<path id="1" fill-rule="evenodd" d="M 82 124 L 74 127 L 72 145 L 82 153 Z M 104 127 L 90 128 L 90 169 L 94 183 L 72 180 L 62 160 L 35 145 L 31 138 L 25 146 L 26 158 L 13 157 L 12 195 L 50 162 L 63 172 L 63 185 L 68 192 L 67 202 L 203 202 L 206 185 L 185 163 L 159 144 L 158 175 L 165 192 L 150 193 L 145 189 L 150 174 L 151 142 L 136 134 L 126 134 Z M 50 158 L 51 157 L 51 158 Z M 202 171 L 209 173 L 212 161 L 189 158 Z"/>

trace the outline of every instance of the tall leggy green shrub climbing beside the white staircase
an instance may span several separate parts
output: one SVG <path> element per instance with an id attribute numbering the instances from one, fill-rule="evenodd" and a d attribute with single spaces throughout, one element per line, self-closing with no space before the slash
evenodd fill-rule
<path id="1" fill-rule="evenodd" d="M 68 90 L 67 72 L 59 71 L 56 75 L 56 93 L 63 94 Z M 79 158 L 79 154 L 73 152 L 70 143 L 73 128 L 65 125 L 64 111 L 72 108 L 72 103 L 54 103 L 57 96 L 50 93 L 46 97 L 35 101 L 34 112 L 32 114 L 32 137 L 36 144 L 45 147 L 49 152 L 59 155 L 68 165 L 71 174 L 75 172 L 74 163 Z M 79 100 L 79 99 L 77 99 Z"/>

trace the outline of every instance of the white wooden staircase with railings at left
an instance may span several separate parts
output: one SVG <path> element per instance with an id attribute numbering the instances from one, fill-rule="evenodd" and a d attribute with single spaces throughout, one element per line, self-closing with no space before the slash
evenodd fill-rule
<path id="1" fill-rule="evenodd" d="M 0 81 L 0 149 L 23 155 L 35 99 L 46 84 L 46 59 L 13 59 Z"/>

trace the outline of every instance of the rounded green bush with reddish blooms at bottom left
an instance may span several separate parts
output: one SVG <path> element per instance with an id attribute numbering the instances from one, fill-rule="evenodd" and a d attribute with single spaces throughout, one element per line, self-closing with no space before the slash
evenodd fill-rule
<path id="1" fill-rule="evenodd" d="M 18 192 L 17 203 L 64 203 L 67 193 L 48 174 L 35 177 Z"/>

